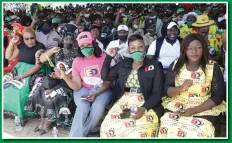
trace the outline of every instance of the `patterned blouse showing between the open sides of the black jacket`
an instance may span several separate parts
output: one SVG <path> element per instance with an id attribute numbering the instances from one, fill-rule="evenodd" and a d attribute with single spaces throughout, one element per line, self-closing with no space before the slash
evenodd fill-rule
<path id="1" fill-rule="evenodd" d="M 131 70 L 131 73 L 129 77 L 127 78 L 127 81 L 125 83 L 125 87 L 140 87 L 139 86 L 139 80 L 138 80 L 138 70 Z"/>

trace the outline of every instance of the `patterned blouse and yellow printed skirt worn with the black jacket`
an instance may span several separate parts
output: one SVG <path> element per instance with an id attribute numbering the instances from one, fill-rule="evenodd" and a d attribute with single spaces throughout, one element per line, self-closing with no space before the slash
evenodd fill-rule
<path id="1" fill-rule="evenodd" d="M 137 70 L 132 70 L 129 75 L 126 87 L 139 87 Z M 150 109 L 140 119 L 134 120 L 131 117 L 121 119 L 120 114 L 124 109 L 131 106 L 141 107 L 144 104 L 144 97 L 141 93 L 125 92 L 124 95 L 110 109 L 100 129 L 102 138 L 124 137 L 144 138 L 154 137 L 158 128 L 158 116 Z"/>

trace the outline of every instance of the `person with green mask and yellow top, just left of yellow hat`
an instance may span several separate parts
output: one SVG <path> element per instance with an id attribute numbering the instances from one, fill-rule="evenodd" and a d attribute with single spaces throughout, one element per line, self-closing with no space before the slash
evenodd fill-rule
<path id="1" fill-rule="evenodd" d="M 197 14 L 195 12 L 189 12 L 183 16 L 184 24 L 180 24 L 180 38 L 184 39 L 188 34 L 197 33 L 197 28 L 194 28 L 192 24 L 197 20 Z"/>

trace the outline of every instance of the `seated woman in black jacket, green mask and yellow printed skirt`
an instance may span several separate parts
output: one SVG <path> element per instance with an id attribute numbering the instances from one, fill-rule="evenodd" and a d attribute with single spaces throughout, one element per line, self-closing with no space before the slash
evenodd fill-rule
<path id="1" fill-rule="evenodd" d="M 120 99 L 110 109 L 101 125 L 101 137 L 154 137 L 163 115 L 164 74 L 162 64 L 145 58 L 146 48 L 140 35 L 128 40 L 126 59 L 110 68 L 116 49 L 109 51 L 103 68 L 104 81 L 118 79 L 122 92 Z M 137 111 L 130 116 L 130 110 Z"/>

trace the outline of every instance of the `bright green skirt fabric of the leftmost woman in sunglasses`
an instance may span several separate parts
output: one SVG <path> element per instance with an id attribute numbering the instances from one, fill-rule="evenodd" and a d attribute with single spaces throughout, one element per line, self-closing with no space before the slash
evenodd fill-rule
<path id="1" fill-rule="evenodd" d="M 26 72 L 27 70 L 31 69 L 34 65 L 27 64 L 23 62 L 19 62 L 15 68 L 17 70 L 17 74 L 21 75 L 22 73 Z M 39 73 L 45 73 L 45 68 L 41 68 Z M 3 100 L 4 100 L 4 111 L 10 111 L 16 113 L 19 118 L 23 118 L 25 116 L 33 116 L 32 112 L 25 111 L 24 106 L 28 100 L 28 96 L 30 93 L 29 89 L 29 81 L 31 77 L 25 78 L 24 87 L 18 89 L 14 85 L 4 89 Z"/>

